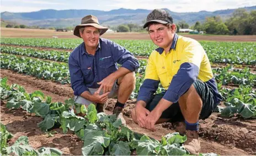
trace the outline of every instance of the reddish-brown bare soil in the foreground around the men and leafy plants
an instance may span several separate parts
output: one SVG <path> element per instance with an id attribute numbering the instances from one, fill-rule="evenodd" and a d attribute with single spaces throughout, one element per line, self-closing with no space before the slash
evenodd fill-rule
<path id="1" fill-rule="evenodd" d="M 13 73 L 9 70 L 1 70 L 1 77 L 7 76 L 8 83 L 17 83 L 25 87 L 27 92 L 41 90 L 45 95 L 52 97 L 52 101 L 63 102 L 73 97 L 70 85 L 36 79 L 33 76 Z M 116 99 L 110 99 L 107 112 L 110 113 Z M 131 109 L 134 108 L 136 99 L 129 100 L 124 109 L 127 126 L 136 132 L 143 132 L 156 139 L 167 133 L 174 132 L 173 126 L 169 123 L 157 125 L 157 131 L 151 132 L 137 126 L 130 118 Z M 1 104 L 1 122 L 7 126 L 7 130 L 14 134 L 10 141 L 12 144 L 19 136 L 29 137 L 31 146 L 34 148 L 55 147 L 67 155 L 81 155 L 83 142 L 72 132 L 64 135 L 61 129 L 54 129 L 57 134 L 54 137 L 48 135 L 36 125 L 42 121 L 38 116 L 30 115 L 22 109 L 8 110 Z M 221 155 L 248 155 L 256 154 L 256 121 L 253 119 L 244 120 L 239 116 L 231 119 L 223 119 L 214 113 L 206 120 L 200 120 L 201 152 L 214 152 Z"/>

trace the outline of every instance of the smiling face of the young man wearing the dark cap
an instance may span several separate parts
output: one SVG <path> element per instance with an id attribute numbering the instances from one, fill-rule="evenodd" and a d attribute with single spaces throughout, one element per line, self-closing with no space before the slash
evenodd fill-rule
<path id="1" fill-rule="evenodd" d="M 173 41 L 175 31 L 173 26 L 171 29 L 163 24 L 151 24 L 148 28 L 148 33 L 154 44 L 161 48 L 167 48 Z"/>

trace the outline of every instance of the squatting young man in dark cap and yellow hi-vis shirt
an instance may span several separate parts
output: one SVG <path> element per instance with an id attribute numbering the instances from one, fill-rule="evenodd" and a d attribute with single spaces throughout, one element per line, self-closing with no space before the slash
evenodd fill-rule
<path id="1" fill-rule="evenodd" d="M 185 148 L 199 154 L 198 120 L 208 118 L 221 101 L 207 54 L 199 42 L 175 33 L 165 10 L 148 14 L 146 27 L 158 48 L 148 58 L 132 119 L 152 131 L 156 123 L 182 121 L 178 130 L 188 138 Z M 159 82 L 166 92 L 154 94 Z"/>

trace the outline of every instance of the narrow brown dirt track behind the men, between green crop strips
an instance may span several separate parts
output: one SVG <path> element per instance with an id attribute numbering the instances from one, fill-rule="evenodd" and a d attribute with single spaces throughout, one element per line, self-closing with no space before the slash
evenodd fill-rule
<path id="1" fill-rule="evenodd" d="M 14 45 L 14 44 L 1 44 L 2 46 L 10 46 L 10 47 L 18 47 L 18 48 L 33 48 L 33 49 L 39 49 L 39 50 L 46 50 L 46 51 L 50 51 L 50 50 L 54 50 L 54 51 L 62 51 L 62 52 L 72 52 L 73 50 L 72 49 L 61 49 L 61 48 L 47 48 L 47 47 L 31 47 L 31 46 L 18 46 L 18 45 Z M 148 57 L 143 57 L 143 56 L 137 56 L 135 55 L 135 57 L 138 59 L 138 60 L 141 60 L 141 59 L 145 59 L 147 60 Z M 211 65 L 212 68 L 223 68 L 227 66 L 227 64 L 225 63 L 214 63 Z M 256 74 L 256 65 L 244 65 L 242 64 L 241 65 L 242 68 L 250 68 L 252 69 L 252 72 L 254 74 Z M 242 68 L 236 68 L 236 69 L 242 69 Z"/>

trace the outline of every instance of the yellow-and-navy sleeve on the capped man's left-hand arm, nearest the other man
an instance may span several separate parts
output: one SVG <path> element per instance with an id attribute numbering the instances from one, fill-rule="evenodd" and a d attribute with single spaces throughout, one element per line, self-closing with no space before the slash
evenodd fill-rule
<path id="1" fill-rule="evenodd" d="M 137 101 L 144 101 L 148 103 L 153 97 L 153 94 L 157 91 L 158 85 L 159 77 L 157 75 L 156 65 L 150 56 L 146 66 L 145 80 L 143 81 L 140 91 L 138 92 Z"/>

